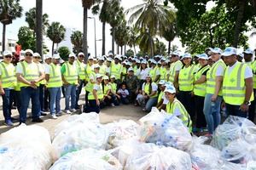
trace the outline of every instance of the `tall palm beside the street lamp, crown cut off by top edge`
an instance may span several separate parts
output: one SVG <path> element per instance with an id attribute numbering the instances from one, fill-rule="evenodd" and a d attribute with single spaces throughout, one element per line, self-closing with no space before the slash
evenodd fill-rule
<path id="1" fill-rule="evenodd" d="M 84 36 L 83 36 L 83 51 L 85 55 L 85 60 L 88 57 L 88 50 L 87 50 L 87 17 L 88 17 L 88 9 L 96 3 L 96 0 L 82 0 L 82 5 L 84 8 Z"/>

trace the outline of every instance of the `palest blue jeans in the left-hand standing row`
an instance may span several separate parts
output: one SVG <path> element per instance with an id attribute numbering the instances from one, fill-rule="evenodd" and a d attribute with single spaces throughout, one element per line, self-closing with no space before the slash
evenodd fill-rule
<path id="1" fill-rule="evenodd" d="M 51 115 L 61 111 L 61 87 L 49 89 L 49 111 Z"/>

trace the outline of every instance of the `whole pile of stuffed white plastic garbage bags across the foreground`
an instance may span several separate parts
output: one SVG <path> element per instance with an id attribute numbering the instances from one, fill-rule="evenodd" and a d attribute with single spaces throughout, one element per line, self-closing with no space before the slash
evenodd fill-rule
<path id="1" fill-rule="evenodd" d="M 69 116 L 52 139 L 44 127 L 15 127 L 0 135 L 0 169 L 256 169 L 256 126 L 245 118 L 229 116 L 212 140 L 154 108 L 138 122 L 99 120 L 96 113 Z"/>

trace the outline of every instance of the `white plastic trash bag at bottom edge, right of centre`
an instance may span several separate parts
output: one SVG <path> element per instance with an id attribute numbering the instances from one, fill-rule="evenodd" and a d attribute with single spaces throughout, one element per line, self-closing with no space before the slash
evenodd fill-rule
<path id="1" fill-rule="evenodd" d="M 128 157 L 125 170 L 191 170 L 189 154 L 172 147 L 139 144 Z"/>

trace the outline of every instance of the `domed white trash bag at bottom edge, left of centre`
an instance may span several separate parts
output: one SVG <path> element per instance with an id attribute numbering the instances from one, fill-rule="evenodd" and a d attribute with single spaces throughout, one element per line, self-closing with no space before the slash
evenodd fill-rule
<path id="1" fill-rule="evenodd" d="M 106 150 L 84 149 L 62 156 L 49 170 L 122 170 L 119 161 Z"/>

